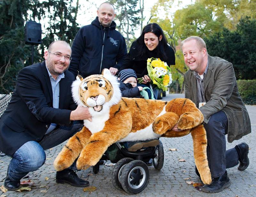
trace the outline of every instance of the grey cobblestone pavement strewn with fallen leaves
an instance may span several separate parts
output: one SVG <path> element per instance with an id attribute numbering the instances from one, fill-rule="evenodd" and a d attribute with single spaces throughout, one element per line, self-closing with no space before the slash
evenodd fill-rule
<path id="1" fill-rule="evenodd" d="M 184 95 L 167 95 L 164 100 L 170 100 L 173 97 L 184 97 Z M 250 197 L 256 196 L 256 159 L 255 159 L 255 130 L 256 130 L 256 106 L 246 106 L 252 122 L 252 133 L 244 136 L 243 139 L 233 143 L 227 143 L 227 149 L 233 148 L 236 144 L 245 141 L 251 148 L 249 151 L 250 165 L 245 171 L 237 170 L 237 167 L 228 169 L 228 175 L 232 182 L 228 189 L 224 189 L 220 193 L 208 194 L 196 190 L 192 185 L 188 185 L 184 178 L 191 177 L 189 180 L 201 183 L 195 173 L 195 163 L 193 158 L 192 138 L 190 135 L 181 138 L 161 138 L 164 145 L 164 166 L 162 170 L 157 171 L 153 166 L 149 167 L 148 186 L 139 194 L 138 197 Z M 253 142 L 254 141 L 254 142 Z M 100 165 L 98 174 L 93 174 L 92 168 L 78 171 L 79 177 L 90 182 L 91 186 L 97 187 L 94 192 L 84 192 L 83 188 L 69 186 L 68 184 L 57 184 L 55 182 L 55 170 L 53 161 L 62 146 L 46 150 L 46 163 L 39 170 L 29 173 L 29 179 L 34 182 L 36 188 L 32 188 L 30 192 L 7 191 L 3 193 L 0 190 L 0 196 L 20 197 L 20 196 L 45 196 L 45 197 L 72 197 L 72 196 L 89 196 L 89 197 L 125 197 L 131 196 L 124 191 L 115 189 L 111 182 L 112 166 Z M 169 148 L 177 148 L 177 151 L 170 151 Z M 185 159 L 185 162 L 179 162 L 178 158 Z M 6 170 L 10 162 L 10 157 L 0 157 L 0 186 L 4 184 Z M 46 180 L 47 178 L 48 180 Z M 23 179 L 28 180 L 28 178 Z M 48 188 L 44 188 L 46 186 Z M 47 191 L 47 192 L 46 192 Z M 46 192 L 46 193 L 42 193 Z"/>

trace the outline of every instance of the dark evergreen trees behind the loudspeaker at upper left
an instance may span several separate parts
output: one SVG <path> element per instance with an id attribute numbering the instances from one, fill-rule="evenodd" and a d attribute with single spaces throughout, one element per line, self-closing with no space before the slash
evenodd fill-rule
<path id="1" fill-rule="evenodd" d="M 54 40 L 68 43 L 78 27 L 72 0 L 3 0 L 0 2 L 0 94 L 12 92 L 18 72 L 31 64 L 31 45 L 25 45 L 25 22 L 47 21 L 42 27 L 42 44 L 34 46 L 34 62 L 44 61 L 44 50 Z M 40 52 L 40 53 L 39 53 Z"/>

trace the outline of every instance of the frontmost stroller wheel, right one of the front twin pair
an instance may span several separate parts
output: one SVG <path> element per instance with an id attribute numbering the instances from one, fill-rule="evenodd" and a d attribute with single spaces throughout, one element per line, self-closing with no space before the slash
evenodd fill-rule
<path id="1" fill-rule="evenodd" d="M 140 160 L 134 160 L 125 165 L 120 178 L 124 191 L 129 194 L 143 191 L 148 185 L 148 180 L 148 166 Z"/>

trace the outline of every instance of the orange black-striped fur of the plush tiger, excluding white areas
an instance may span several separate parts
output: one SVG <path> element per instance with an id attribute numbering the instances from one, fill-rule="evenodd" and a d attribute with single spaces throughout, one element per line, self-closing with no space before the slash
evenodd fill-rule
<path id="1" fill-rule="evenodd" d="M 99 76 L 97 75 L 98 78 Z M 98 82 L 92 82 L 87 78 L 84 80 L 88 81 L 86 88 L 84 86 L 83 91 L 79 89 L 79 99 L 82 99 L 83 103 L 86 103 L 87 98 L 98 96 L 97 92 L 106 97 L 106 102 L 109 102 L 110 97 L 114 95 L 113 93 L 111 96 L 108 94 L 111 92 L 109 91 L 111 87 L 108 84 L 106 87 L 103 86 L 108 90 L 105 93 L 104 89 L 97 85 Z M 108 83 L 110 82 L 108 81 Z M 97 89 L 99 90 L 97 91 Z M 127 137 L 129 133 L 136 134 L 137 131 L 143 129 L 148 129 L 145 131 L 157 133 L 161 137 L 181 137 L 191 132 L 196 167 L 204 184 L 211 184 L 211 173 L 206 155 L 206 132 L 202 125 L 203 115 L 191 100 L 180 98 L 163 102 L 139 98 L 121 98 L 117 104 L 110 107 L 108 113 L 109 117 L 103 123 L 101 130 L 93 131 L 94 127 L 92 127 L 92 132 L 90 132 L 84 126 L 80 132 L 68 140 L 67 145 L 54 161 L 56 170 L 68 168 L 78 156 L 76 163 L 78 169 L 86 169 L 95 165 L 111 144 Z M 97 119 L 97 121 L 99 120 Z M 98 123 L 97 121 L 95 124 Z M 152 127 L 150 128 L 151 124 Z M 173 131 L 172 128 L 176 124 L 183 131 Z"/>

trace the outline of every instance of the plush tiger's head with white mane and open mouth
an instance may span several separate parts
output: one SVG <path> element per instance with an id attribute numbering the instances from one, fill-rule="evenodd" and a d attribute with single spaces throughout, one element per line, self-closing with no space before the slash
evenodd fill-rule
<path id="1" fill-rule="evenodd" d="M 117 104 L 121 99 L 121 91 L 117 78 L 108 69 L 103 69 L 101 75 L 90 75 L 85 79 L 77 76 L 72 84 L 72 96 L 78 106 L 100 112 L 103 108 Z"/>

